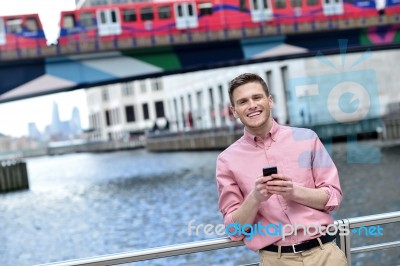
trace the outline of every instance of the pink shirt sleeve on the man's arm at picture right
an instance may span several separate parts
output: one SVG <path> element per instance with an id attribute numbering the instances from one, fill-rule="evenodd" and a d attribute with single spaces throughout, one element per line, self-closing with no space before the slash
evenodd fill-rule
<path id="1" fill-rule="evenodd" d="M 315 140 L 312 163 L 315 187 L 324 190 L 328 196 L 325 211 L 337 210 L 342 201 L 339 173 L 328 151 L 318 137 Z"/>

